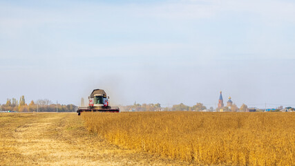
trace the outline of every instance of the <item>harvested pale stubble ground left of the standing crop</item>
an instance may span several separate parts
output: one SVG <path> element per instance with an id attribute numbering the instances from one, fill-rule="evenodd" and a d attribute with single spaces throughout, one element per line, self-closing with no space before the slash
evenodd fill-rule
<path id="1" fill-rule="evenodd" d="M 187 165 L 111 145 L 77 113 L 0 113 L 0 165 Z"/>

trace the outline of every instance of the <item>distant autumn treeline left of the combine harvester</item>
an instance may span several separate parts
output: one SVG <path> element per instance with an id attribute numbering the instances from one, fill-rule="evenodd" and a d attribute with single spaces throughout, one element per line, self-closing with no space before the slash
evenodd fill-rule
<path id="1" fill-rule="evenodd" d="M 74 112 L 77 111 L 77 106 L 74 104 L 53 104 L 50 100 L 31 101 L 26 104 L 25 97 L 16 100 L 15 98 L 7 99 L 6 104 L 0 104 L 2 111 L 19 111 L 19 112 Z"/>

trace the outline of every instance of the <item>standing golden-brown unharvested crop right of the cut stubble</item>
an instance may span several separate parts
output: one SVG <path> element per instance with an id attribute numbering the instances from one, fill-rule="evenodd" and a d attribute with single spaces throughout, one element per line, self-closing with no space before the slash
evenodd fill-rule
<path id="1" fill-rule="evenodd" d="M 115 145 L 205 165 L 295 165 L 295 113 L 82 113 Z"/>

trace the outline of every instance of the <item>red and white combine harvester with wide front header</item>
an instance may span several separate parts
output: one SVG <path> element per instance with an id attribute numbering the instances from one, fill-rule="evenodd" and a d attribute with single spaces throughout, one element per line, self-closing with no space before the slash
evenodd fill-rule
<path id="1" fill-rule="evenodd" d="M 78 107 L 77 113 L 78 116 L 82 112 L 113 112 L 118 113 L 120 112 L 119 107 L 111 107 L 108 105 L 109 97 L 106 96 L 106 92 L 102 89 L 94 89 L 91 95 L 88 97 L 89 104 L 88 107 Z"/>

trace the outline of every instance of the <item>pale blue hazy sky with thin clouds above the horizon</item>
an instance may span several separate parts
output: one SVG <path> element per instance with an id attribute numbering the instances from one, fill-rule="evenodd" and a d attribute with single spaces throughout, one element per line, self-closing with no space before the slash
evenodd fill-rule
<path id="1" fill-rule="evenodd" d="M 0 1 L 0 104 L 295 106 L 295 2 Z M 216 104 L 214 106 L 214 104 Z"/>

